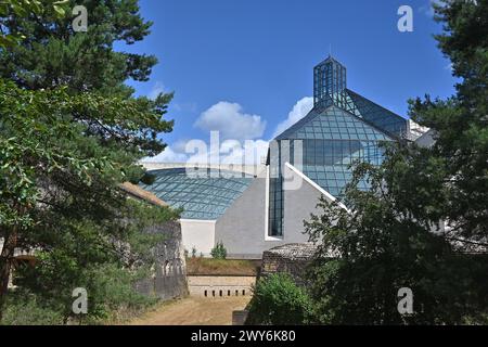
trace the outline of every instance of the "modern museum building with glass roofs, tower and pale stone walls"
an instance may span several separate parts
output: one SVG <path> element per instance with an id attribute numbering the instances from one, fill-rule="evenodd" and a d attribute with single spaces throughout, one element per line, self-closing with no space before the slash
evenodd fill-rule
<path id="1" fill-rule="evenodd" d="M 329 56 L 313 68 L 313 108 L 270 142 L 260 165 L 143 163 L 141 185 L 181 213 L 184 247 L 209 256 L 258 259 L 270 248 L 305 243 L 304 220 L 320 196 L 341 200 L 357 160 L 380 165 L 381 143 L 424 141 L 425 128 L 347 88 L 346 68 Z M 432 139 L 431 139 L 432 140 Z M 367 189 L 367 183 L 362 182 Z"/>

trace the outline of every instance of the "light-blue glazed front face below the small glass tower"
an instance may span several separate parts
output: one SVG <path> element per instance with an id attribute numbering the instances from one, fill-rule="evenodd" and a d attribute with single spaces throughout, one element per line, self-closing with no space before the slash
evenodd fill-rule
<path id="1" fill-rule="evenodd" d="M 332 105 L 314 107 L 277 140 L 303 141 L 303 172 L 341 197 L 351 179 L 350 165 L 356 160 L 380 165 L 383 160 L 380 143 L 394 138 L 363 118 Z M 361 182 L 360 189 L 365 188 L 365 182 Z"/>

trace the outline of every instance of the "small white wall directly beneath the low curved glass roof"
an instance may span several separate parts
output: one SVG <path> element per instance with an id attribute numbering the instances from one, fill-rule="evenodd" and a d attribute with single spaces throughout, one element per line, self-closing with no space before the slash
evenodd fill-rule
<path id="1" fill-rule="evenodd" d="M 215 220 L 191 220 L 181 219 L 181 233 L 183 247 L 190 255 L 193 247 L 196 248 L 196 256 L 203 253 L 205 257 L 210 256 L 215 246 Z"/>

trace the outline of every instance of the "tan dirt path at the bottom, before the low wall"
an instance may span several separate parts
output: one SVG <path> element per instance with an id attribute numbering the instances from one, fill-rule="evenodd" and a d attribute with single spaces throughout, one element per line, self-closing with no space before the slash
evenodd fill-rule
<path id="1" fill-rule="evenodd" d="M 249 300 L 249 296 L 189 297 L 165 304 L 129 325 L 231 325 L 232 311 L 244 309 Z"/>

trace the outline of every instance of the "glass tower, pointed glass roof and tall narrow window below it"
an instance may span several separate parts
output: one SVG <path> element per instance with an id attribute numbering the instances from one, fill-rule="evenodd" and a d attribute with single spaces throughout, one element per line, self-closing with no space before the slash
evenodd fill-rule
<path id="1" fill-rule="evenodd" d="M 283 235 L 285 159 L 333 196 L 341 198 L 356 160 L 380 165 L 382 142 L 395 141 L 407 130 L 407 120 L 346 86 L 346 68 L 329 57 L 313 69 L 314 107 L 274 139 L 270 151 L 269 234 Z M 293 155 L 297 141 L 300 163 Z M 284 145 L 286 143 L 286 145 Z M 367 182 L 360 188 L 368 189 Z"/>

